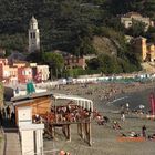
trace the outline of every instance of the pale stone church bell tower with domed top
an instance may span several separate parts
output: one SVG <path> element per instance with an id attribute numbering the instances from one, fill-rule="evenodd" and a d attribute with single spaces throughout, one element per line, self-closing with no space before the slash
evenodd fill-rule
<path id="1" fill-rule="evenodd" d="M 38 21 L 34 17 L 30 20 L 29 28 L 29 52 L 34 52 L 40 50 L 40 34 L 38 29 Z"/>

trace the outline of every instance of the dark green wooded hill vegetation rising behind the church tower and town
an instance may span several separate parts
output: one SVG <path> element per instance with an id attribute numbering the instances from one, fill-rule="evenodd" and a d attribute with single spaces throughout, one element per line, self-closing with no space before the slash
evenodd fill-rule
<path id="1" fill-rule="evenodd" d="M 75 55 L 96 54 L 97 50 L 93 45 L 93 39 L 94 37 L 104 37 L 116 49 L 115 56 L 108 55 L 108 59 L 116 63 L 117 69 L 111 70 L 111 68 L 114 68 L 111 61 L 107 62 L 107 69 L 101 66 L 101 64 L 105 65 L 105 62 L 102 61 L 107 59 L 107 55 L 103 53 L 104 56 L 101 56 L 103 60 L 99 56 L 99 62 L 102 62 L 100 70 L 107 73 L 141 70 L 140 59 L 134 55 L 125 42 L 124 34 L 134 37 L 143 34 L 151 41 L 155 41 L 155 29 L 151 28 L 146 33 L 143 31 L 143 24 L 135 23 L 133 28 L 125 31 L 117 14 L 124 14 L 128 11 L 138 11 L 155 19 L 155 1 L 1 0 L 0 46 L 4 48 L 7 53 L 13 50 L 27 51 L 29 20 L 34 16 L 40 28 L 41 52 L 62 50 Z M 89 70 L 92 70 L 91 63 L 87 65 Z M 108 69 L 110 71 L 106 71 Z"/>

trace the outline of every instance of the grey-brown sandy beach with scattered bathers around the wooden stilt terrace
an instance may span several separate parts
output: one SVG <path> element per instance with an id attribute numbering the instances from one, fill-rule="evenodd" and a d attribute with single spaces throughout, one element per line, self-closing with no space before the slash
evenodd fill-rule
<path id="1" fill-rule="evenodd" d="M 78 135 L 76 125 L 72 125 L 71 142 L 66 142 L 61 130 L 56 130 L 56 140 L 44 140 L 44 151 L 64 149 L 71 155 L 154 155 L 155 142 L 118 142 L 117 137 L 124 133 L 142 133 L 142 126 L 146 125 L 146 134 L 155 133 L 155 121 L 142 118 L 135 114 L 125 114 L 125 121 L 121 121 L 120 105 L 130 104 L 133 110 L 138 104 L 149 110 L 148 95 L 154 91 L 154 82 L 147 83 L 100 83 L 64 85 L 52 89 L 54 93 L 64 93 L 91 99 L 94 107 L 110 118 L 106 125 L 97 125 L 92 122 L 92 147 L 87 146 Z M 113 130 L 113 121 L 117 121 L 122 130 Z M 46 153 L 48 154 L 48 153 Z M 52 153 L 49 153 L 49 155 Z"/>

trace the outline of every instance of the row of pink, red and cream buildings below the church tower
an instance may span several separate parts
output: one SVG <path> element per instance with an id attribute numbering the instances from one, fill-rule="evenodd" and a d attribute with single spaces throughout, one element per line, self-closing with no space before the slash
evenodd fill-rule
<path id="1" fill-rule="evenodd" d="M 48 65 L 29 64 L 28 62 L 14 62 L 11 65 L 7 59 L 0 59 L 0 81 L 11 83 L 27 83 L 28 81 L 46 81 L 50 72 Z"/>

